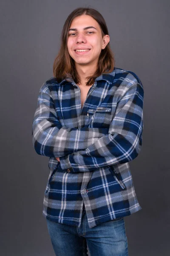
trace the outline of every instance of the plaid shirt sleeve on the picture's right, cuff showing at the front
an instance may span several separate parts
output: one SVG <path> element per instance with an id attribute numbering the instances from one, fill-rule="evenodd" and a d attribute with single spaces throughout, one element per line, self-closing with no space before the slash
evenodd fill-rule
<path id="1" fill-rule="evenodd" d="M 143 97 L 142 83 L 133 82 L 117 103 L 108 134 L 82 151 L 61 157 L 62 169 L 89 172 L 136 158 L 142 146 Z"/>

